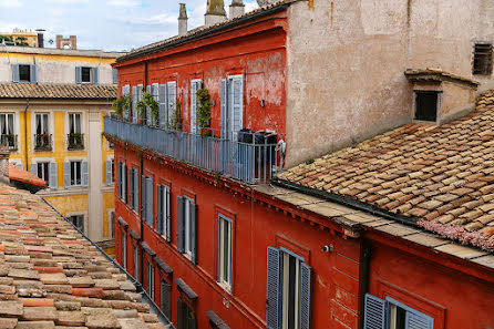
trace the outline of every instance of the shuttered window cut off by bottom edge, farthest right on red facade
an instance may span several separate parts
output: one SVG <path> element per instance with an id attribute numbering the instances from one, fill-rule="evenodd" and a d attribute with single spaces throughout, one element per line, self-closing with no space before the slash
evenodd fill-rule
<path id="1" fill-rule="evenodd" d="M 366 294 L 364 328 L 433 329 L 434 319 L 390 297 Z"/>

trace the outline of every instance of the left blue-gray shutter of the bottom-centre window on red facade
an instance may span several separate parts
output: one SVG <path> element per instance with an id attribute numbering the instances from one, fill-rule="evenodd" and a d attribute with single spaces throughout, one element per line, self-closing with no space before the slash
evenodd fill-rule
<path id="1" fill-rule="evenodd" d="M 280 325 L 280 251 L 268 247 L 266 279 L 266 326 L 278 329 Z"/>

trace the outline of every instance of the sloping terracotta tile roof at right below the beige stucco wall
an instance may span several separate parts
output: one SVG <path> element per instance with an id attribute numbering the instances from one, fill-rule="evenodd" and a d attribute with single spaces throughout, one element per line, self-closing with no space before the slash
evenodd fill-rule
<path id="1" fill-rule="evenodd" d="M 465 117 L 441 126 L 408 124 L 288 169 L 278 179 L 491 236 L 494 232 L 485 228 L 494 226 L 493 126 L 490 91 Z"/>

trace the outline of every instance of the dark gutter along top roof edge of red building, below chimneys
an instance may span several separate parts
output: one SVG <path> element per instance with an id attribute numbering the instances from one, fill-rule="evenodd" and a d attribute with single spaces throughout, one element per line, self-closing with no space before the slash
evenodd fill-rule
<path id="1" fill-rule="evenodd" d="M 272 8 L 259 11 L 257 13 L 254 13 L 251 16 L 243 17 L 243 18 L 239 18 L 237 20 L 233 20 L 233 21 L 230 21 L 228 23 L 225 23 L 225 24 L 222 24 L 222 25 L 218 25 L 218 27 L 214 27 L 214 28 L 210 28 L 210 29 L 206 29 L 204 31 L 197 32 L 196 34 L 192 34 L 192 35 L 188 35 L 188 37 L 179 38 L 179 39 L 177 39 L 175 41 L 172 41 L 169 43 L 165 43 L 165 44 L 156 45 L 156 47 L 153 47 L 153 48 L 150 48 L 150 49 L 145 49 L 143 51 L 135 52 L 133 54 L 123 55 L 123 56 L 116 59 L 116 63 L 122 63 L 122 62 L 125 62 L 125 61 L 128 61 L 128 60 L 132 60 L 132 59 L 135 59 L 135 58 L 138 58 L 138 56 L 142 56 L 142 55 L 147 55 L 147 54 L 151 54 L 151 53 L 155 53 L 155 52 L 165 50 L 167 48 L 173 48 L 175 45 L 187 43 L 188 41 L 192 41 L 194 39 L 199 39 L 202 37 L 207 37 L 207 35 L 209 35 L 212 33 L 222 31 L 224 29 L 228 29 L 228 28 L 231 28 L 231 27 L 235 27 L 235 25 L 238 25 L 238 24 L 247 23 L 247 22 L 254 21 L 254 20 L 256 20 L 258 18 L 261 18 L 261 17 L 265 17 L 265 16 L 269 16 L 271 13 L 284 11 L 285 9 L 290 7 L 290 4 L 291 4 L 291 2 L 281 4 L 281 6 L 277 6 L 277 7 L 272 7 Z"/>

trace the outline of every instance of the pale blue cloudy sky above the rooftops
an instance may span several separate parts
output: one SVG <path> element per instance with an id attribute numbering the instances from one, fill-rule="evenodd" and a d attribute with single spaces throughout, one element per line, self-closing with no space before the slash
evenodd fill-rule
<path id="1" fill-rule="evenodd" d="M 78 35 L 79 49 L 128 51 L 177 34 L 178 2 L 185 2 L 188 28 L 204 23 L 206 0 L 0 0 L 0 32 L 45 29 Z M 231 0 L 225 0 L 225 9 Z M 246 10 L 256 0 L 244 0 Z"/>

